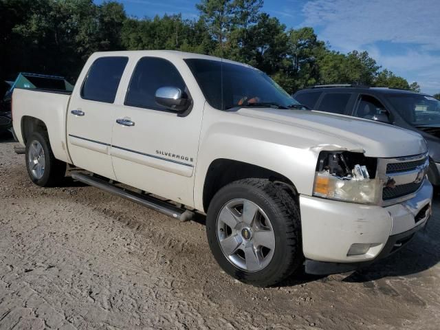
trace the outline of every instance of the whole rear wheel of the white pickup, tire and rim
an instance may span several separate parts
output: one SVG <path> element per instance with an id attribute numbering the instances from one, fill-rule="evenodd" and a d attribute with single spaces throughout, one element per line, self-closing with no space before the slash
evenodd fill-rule
<path id="1" fill-rule="evenodd" d="M 34 132 L 26 143 L 26 168 L 32 182 L 53 187 L 65 179 L 66 164 L 54 157 L 47 136 Z"/>

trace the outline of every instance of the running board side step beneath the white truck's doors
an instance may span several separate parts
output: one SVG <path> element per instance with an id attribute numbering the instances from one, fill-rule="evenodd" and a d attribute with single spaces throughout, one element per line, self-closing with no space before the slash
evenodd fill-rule
<path id="1" fill-rule="evenodd" d="M 166 214 L 169 217 L 179 219 L 179 221 L 189 221 L 192 219 L 192 217 L 194 217 L 194 212 L 191 212 L 190 210 L 178 208 L 171 203 L 167 203 L 166 201 L 162 201 L 149 195 L 142 195 L 137 192 L 114 186 L 113 184 L 110 184 L 103 179 L 99 179 L 98 177 L 93 177 L 84 173 L 72 173 L 72 179 L 81 181 L 89 186 L 100 188 L 114 195 L 118 195 L 119 197 L 129 199 L 135 203 L 146 206 L 147 208 L 151 208 L 152 210 Z"/>

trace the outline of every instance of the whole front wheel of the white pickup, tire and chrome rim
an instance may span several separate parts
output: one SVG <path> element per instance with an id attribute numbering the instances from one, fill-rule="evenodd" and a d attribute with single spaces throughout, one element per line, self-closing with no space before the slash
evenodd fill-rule
<path id="1" fill-rule="evenodd" d="M 303 264 L 298 206 L 269 180 L 221 188 L 210 203 L 206 230 L 219 265 L 244 283 L 275 285 Z"/>

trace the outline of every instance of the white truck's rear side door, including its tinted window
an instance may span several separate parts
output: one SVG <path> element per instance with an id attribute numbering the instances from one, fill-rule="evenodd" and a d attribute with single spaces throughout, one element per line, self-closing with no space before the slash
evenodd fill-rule
<path id="1" fill-rule="evenodd" d="M 67 113 L 69 154 L 74 165 L 115 179 L 110 155 L 114 101 L 128 58 L 104 56 L 89 62 Z"/>

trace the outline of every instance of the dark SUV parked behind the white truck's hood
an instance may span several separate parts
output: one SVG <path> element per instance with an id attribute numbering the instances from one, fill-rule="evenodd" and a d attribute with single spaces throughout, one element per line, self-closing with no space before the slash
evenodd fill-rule
<path id="1" fill-rule="evenodd" d="M 382 87 L 323 85 L 297 91 L 310 109 L 386 122 L 420 133 L 428 143 L 428 178 L 440 185 L 440 101 L 427 94 Z"/>

